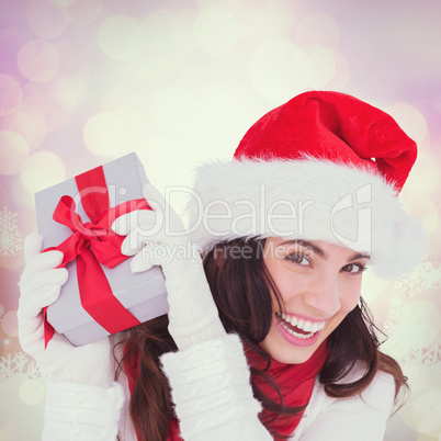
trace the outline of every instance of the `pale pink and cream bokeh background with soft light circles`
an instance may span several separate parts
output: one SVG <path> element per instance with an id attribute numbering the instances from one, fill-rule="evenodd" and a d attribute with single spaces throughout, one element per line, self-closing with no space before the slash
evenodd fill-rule
<path id="1" fill-rule="evenodd" d="M 438 0 L 0 0 L 0 439 L 43 426 L 45 378 L 16 325 L 33 194 L 129 151 L 159 189 L 191 185 L 310 89 L 385 110 L 419 145 L 400 197 L 427 256 L 394 281 L 368 272 L 363 292 L 412 388 L 385 439 L 439 439 L 440 18 Z"/>

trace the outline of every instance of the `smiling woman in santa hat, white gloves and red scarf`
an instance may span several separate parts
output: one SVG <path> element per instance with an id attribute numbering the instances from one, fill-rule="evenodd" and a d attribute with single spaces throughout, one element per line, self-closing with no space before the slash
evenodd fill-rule
<path id="1" fill-rule="evenodd" d="M 31 237 L 19 324 L 52 376 L 44 437 L 382 439 L 406 380 L 378 350 L 361 279 L 368 263 L 396 276 L 422 255 L 397 199 L 415 159 L 380 110 L 336 92 L 294 98 L 248 131 L 234 161 L 200 170 L 189 210 L 204 268 L 147 185 L 152 211 L 113 229 L 128 235 L 134 272 L 162 267 L 170 310 L 111 337 L 115 369 L 108 338 L 72 348 L 55 336 L 43 350 L 41 309 L 67 273 Z"/>

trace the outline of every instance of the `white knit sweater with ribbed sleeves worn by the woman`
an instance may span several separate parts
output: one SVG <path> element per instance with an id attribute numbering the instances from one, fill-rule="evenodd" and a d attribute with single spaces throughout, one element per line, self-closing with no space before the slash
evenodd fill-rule
<path id="1" fill-rule="evenodd" d="M 258 419 L 249 371 L 237 336 L 195 344 L 161 359 L 170 380 L 184 440 L 272 440 Z M 113 372 L 110 372 L 112 375 Z M 343 381 L 358 376 L 351 372 Z M 43 440 L 136 441 L 125 377 L 110 388 L 48 380 Z M 316 381 L 304 418 L 291 440 L 383 440 L 394 400 L 394 381 L 378 373 L 352 398 L 330 398 Z"/>

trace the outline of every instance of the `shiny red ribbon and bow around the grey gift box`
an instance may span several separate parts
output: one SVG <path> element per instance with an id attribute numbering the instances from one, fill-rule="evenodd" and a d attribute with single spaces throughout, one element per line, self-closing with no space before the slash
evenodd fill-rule
<path id="1" fill-rule="evenodd" d="M 124 237 L 116 235 L 111 226 L 117 217 L 126 213 L 151 208 L 144 199 L 127 201 L 111 208 L 102 167 L 76 177 L 76 182 L 82 207 L 91 222 L 81 220 L 76 213 L 72 197 L 61 196 L 53 218 L 69 227 L 72 235 L 57 247 L 47 248 L 45 251 L 64 252 L 59 268 L 77 260 L 77 280 L 82 307 L 109 333 L 116 333 L 139 325 L 140 321 L 113 295 L 101 268 L 101 264 L 114 268 L 128 259 L 128 256 L 121 253 Z M 46 318 L 46 308 L 44 315 Z M 45 319 L 45 346 L 54 332 L 54 328 Z"/>

